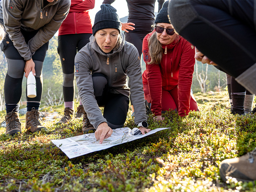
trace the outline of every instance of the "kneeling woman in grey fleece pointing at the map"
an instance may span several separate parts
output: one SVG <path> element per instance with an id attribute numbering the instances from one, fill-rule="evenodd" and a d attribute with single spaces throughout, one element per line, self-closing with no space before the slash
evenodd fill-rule
<path id="1" fill-rule="evenodd" d="M 86 111 L 83 131 L 87 133 L 91 129 L 97 129 L 95 137 L 101 144 L 104 138 L 111 136 L 112 129 L 122 127 L 129 109 L 131 91 L 135 124 L 142 134 L 149 132 L 140 58 L 137 49 L 124 41 L 116 9 L 109 4 L 101 5 L 92 31 L 90 43 L 75 57 L 79 96 Z M 127 76 L 130 79 L 130 91 Z M 99 106 L 104 106 L 103 115 Z"/>

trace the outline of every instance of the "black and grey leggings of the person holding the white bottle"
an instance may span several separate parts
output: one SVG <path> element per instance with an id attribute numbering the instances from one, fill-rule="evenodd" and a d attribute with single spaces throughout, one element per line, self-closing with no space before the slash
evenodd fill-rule
<path id="1" fill-rule="evenodd" d="M 0 22 L 3 23 L 3 19 L 1 19 Z M 25 38 L 25 41 L 28 43 L 28 41 L 36 35 L 38 30 L 27 32 L 21 29 L 21 32 Z M 34 98 L 27 97 L 27 101 L 41 101 L 43 87 L 42 67 L 48 45 L 49 41 L 37 49 L 35 54 L 32 56 L 32 59 L 35 62 L 36 70 L 35 78 L 37 96 Z M 4 52 L 8 62 L 8 70 L 4 82 L 5 103 L 17 104 L 20 102 L 22 95 L 22 79 L 24 76 L 25 60 L 20 56 L 19 52 L 14 47 L 8 33 L 6 33 L 5 39 L 1 43 L 1 50 Z"/>

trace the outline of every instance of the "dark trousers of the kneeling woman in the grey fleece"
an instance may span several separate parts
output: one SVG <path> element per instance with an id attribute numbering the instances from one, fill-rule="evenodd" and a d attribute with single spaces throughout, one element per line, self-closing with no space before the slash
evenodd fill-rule
<path id="1" fill-rule="evenodd" d="M 104 107 L 103 117 L 111 129 L 124 126 L 129 110 L 129 98 L 122 94 L 110 93 L 106 77 L 101 73 L 92 74 L 95 99 Z"/>

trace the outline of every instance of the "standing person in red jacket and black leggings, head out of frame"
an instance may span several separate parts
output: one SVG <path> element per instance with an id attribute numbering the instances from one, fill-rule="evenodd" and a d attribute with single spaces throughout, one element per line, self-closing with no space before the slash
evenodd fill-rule
<path id="1" fill-rule="evenodd" d="M 67 123 L 74 116 L 74 58 L 92 35 L 89 9 L 93 9 L 95 0 L 71 0 L 67 18 L 61 24 L 58 35 L 58 54 L 63 72 L 64 115 L 57 123 Z M 83 116 L 84 109 L 80 101 L 76 118 Z"/>

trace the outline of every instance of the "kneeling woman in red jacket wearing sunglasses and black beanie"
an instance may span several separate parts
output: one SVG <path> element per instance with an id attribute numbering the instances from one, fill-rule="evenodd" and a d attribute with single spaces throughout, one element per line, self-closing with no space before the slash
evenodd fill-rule
<path id="1" fill-rule="evenodd" d="M 146 63 L 143 90 L 155 120 L 173 109 L 180 116 L 197 111 L 197 103 L 190 93 L 195 65 L 195 49 L 177 35 L 167 17 L 168 2 L 156 16 L 155 30 L 146 35 L 142 51 Z"/>

